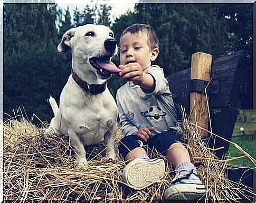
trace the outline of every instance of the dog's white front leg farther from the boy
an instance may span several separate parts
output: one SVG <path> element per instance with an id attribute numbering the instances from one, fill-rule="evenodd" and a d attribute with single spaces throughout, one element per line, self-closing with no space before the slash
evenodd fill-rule
<path id="1" fill-rule="evenodd" d="M 68 129 L 68 135 L 71 141 L 71 144 L 74 146 L 75 150 L 75 165 L 79 167 L 86 166 L 88 161 L 86 159 L 86 150 L 84 149 L 83 143 L 73 130 Z"/>

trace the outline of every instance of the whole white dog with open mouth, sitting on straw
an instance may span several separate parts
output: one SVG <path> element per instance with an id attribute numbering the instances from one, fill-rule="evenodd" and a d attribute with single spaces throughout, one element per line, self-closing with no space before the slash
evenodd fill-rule
<path id="1" fill-rule="evenodd" d="M 75 147 L 75 161 L 87 163 L 84 146 L 106 140 L 106 157 L 115 159 L 117 106 L 106 81 L 120 70 L 110 62 L 117 54 L 113 32 L 103 25 L 83 25 L 69 29 L 58 45 L 59 52 L 71 48 L 72 69 L 60 95 L 60 108 L 50 97 L 54 112 L 48 131 L 69 136 Z"/>

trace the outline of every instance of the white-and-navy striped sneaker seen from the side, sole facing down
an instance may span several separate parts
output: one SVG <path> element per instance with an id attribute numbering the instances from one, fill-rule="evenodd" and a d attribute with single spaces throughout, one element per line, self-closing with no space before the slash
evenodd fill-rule
<path id="1" fill-rule="evenodd" d="M 177 174 L 170 187 L 165 190 L 165 199 L 199 200 L 206 193 L 203 182 L 191 171 L 181 171 Z"/>

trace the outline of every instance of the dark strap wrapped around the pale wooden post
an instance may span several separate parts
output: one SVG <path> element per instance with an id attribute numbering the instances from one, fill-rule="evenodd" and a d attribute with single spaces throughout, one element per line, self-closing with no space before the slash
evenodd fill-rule
<path id="1" fill-rule="evenodd" d="M 208 81 L 202 79 L 190 80 L 190 92 L 204 93 L 204 88 L 208 84 Z M 208 94 L 217 94 L 219 92 L 219 80 L 212 80 L 207 87 Z"/>

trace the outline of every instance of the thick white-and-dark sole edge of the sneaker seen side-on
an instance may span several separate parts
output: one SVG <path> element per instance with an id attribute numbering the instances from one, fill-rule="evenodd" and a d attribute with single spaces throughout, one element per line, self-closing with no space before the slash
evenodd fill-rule
<path id="1" fill-rule="evenodd" d="M 204 185 L 186 184 L 186 191 L 184 184 L 174 185 L 165 191 L 165 199 L 184 199 L 184 200 L 199 200 L 206 194 Z"/>

